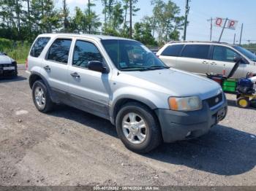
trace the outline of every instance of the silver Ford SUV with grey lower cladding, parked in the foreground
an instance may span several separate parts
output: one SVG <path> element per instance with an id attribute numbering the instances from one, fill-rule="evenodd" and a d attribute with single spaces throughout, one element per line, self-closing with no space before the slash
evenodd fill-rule
<path id="1" fill-rule="evenodd" d="M 103 117 L 135 152 L 149 152 L 162 140 L 202 136 L 227 112 L 216 82 L 169 69 L 131 39 L 42 34 L 31 47 L 27 67 L 39 112 L 62 103 Z"/>

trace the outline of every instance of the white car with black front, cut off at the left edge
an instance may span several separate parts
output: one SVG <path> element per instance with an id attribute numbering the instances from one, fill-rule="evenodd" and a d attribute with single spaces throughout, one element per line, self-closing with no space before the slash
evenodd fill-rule
<path id="1" fill-rule="evenodd" d="M 17 77 L 17 62 L 7 54 L 0 52 L 0 78 Z"/>

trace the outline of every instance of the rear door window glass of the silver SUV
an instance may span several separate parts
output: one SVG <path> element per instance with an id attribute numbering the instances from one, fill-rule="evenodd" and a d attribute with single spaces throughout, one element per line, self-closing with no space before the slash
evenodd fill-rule
<path id="1" fill-rule="evenodd" d="M 47 59 L 49 61 L 67 63 L 71 42 L 71 39 L 56 39 L 50 46 Z"/>

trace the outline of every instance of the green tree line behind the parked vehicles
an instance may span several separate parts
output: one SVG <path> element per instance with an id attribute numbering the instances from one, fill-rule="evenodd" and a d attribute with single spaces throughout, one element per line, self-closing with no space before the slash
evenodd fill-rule
<path id="1" fill-rule="evenodd" d="M 95 12 L 95 1 L 102 4 L 104 21 Z M 123 36 L 150 45 L 180 38 L 184 16 L 173 1 L 151 0 L 152 16 L 133 25 L 140 12 L 138 1 L 89 0 L 85 7 L 75 7 L 71 15 L 66 0 L 61 0 L 61 8 L 56 7 L 56 0 L 0 0 L 0 37 L 33 41 L 38 34 L 53 31 L 83 32 Z"/>

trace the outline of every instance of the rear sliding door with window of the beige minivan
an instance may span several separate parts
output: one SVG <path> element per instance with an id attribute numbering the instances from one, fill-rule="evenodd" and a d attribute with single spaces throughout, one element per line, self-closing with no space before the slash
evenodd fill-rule
<path id="1" fill-rule="evenodd" d="M 206 74 L 208 71 L 210 45 L 187 44 L 176 59 L 176 68 L 196 74 Z"/>

